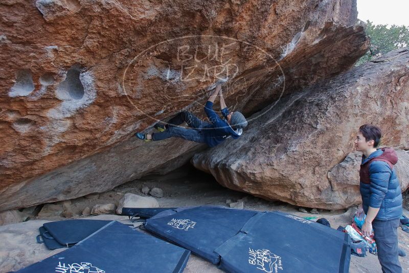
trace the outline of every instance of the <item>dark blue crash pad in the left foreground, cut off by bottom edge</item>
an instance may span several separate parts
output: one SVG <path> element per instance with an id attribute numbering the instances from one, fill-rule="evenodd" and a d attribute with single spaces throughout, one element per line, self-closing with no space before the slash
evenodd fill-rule
<path id="1" fill-rule="evenodd" d="M 20 273 L 183 272 L 190 251 L 111 221 L 71 248 Z"/>

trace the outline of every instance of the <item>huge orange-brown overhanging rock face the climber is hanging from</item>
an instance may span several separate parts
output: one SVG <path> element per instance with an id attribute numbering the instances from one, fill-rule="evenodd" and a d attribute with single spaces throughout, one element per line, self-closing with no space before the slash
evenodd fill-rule
<path id="1" fill-rule="evenodd" d="M 186 163 L 203 145 L 129 138 L 181 109 L 203 117 L 219 78 L 252 113 L 368 48 L 355 0 L 5 0 L 0 16 L 0 211 Z"/>

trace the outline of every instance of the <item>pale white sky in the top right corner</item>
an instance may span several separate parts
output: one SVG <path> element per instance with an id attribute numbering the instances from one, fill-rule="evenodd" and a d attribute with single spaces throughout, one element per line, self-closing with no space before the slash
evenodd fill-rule
<path id="1" fill-rule="evenodd" d="M 357 0 L 358 19 L 375 25 L 409 26 L 409 0 Z"/>

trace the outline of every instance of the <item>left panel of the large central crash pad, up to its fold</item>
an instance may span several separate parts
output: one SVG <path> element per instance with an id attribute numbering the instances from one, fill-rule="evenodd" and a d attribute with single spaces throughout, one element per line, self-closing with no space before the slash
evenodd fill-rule
<path id="1" fill-rule="evenodd" d="M 217 264 L 214 253 L 222 242 L 232 238 L 255 211 L 203 206 L 165 211 L 147 219 L 144 227 L 160 237 L 183 246 L 198 256 Z M 170 215 L 169 215 L 170 214 Z M 223 216 L 229 217 L 223 217 Z"/>

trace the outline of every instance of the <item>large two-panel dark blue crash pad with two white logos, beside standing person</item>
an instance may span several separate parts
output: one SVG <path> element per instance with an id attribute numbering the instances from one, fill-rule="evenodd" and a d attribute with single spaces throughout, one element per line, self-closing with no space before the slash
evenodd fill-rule
<path id="1" fill-rule="evenodd" d="M 228 272 L 348 272 L 349 235 L 281 212 L 203 206 L 147 219 L 146 230 Z"/>

